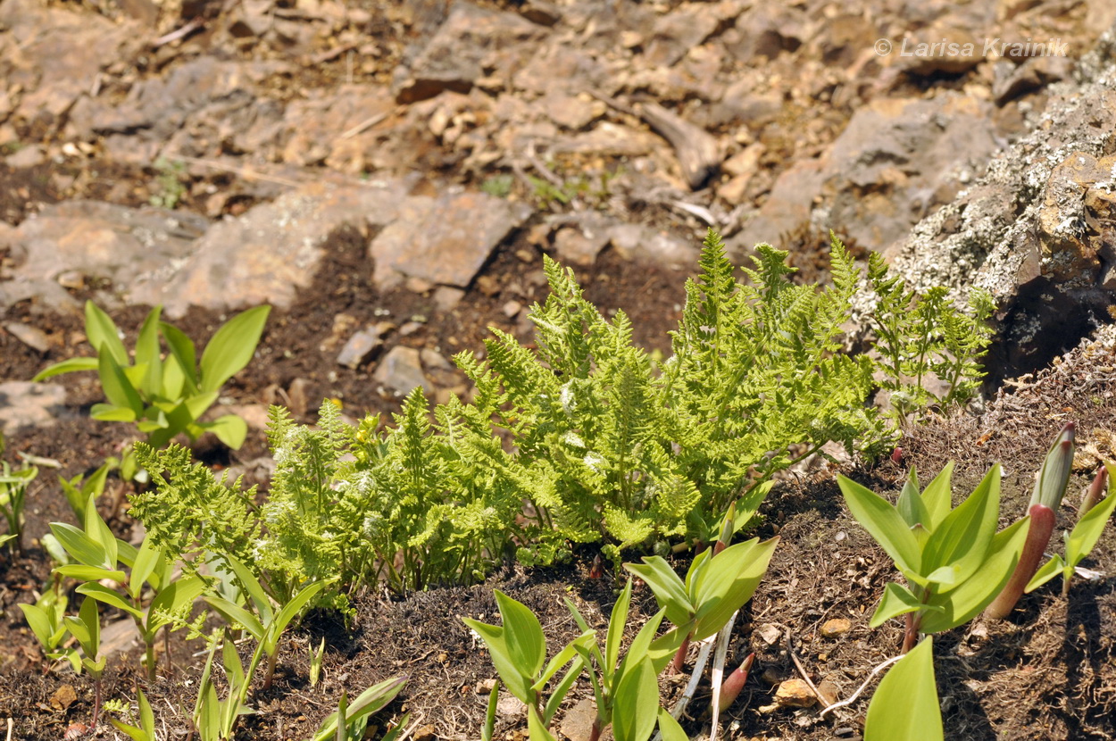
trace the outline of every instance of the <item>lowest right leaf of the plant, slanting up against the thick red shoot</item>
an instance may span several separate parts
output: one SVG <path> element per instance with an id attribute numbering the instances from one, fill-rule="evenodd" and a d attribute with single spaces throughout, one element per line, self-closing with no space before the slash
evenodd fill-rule
<path id="1" fill-rule="evenodd" d="M 942 609 L 924 613 L 918 629 L 922 633 L 949 631 L 964 625 L 988 607 L 1008 584 L 1016 569 L 1023 541 L 1027 539 L 1029 523 L 1030 518 L 1024 517 L 995 533 L 988 558 L 975 574 L 950 591 L 932 594 L 926 600 L 926 606 Z"/>

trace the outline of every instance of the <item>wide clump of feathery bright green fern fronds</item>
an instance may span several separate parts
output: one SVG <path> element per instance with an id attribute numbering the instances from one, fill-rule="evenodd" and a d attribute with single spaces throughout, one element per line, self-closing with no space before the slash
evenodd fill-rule
<path id="1" fill-rule="evenodd" d="M 602 542 L 616 560 L 671 538 L 708 542 L 733 501 L 754 512 L 775 473 L 827 443 L 886 450 L 896 417 L 866 403 L 878 385 L 899 414 L 978 388 L 987 295 L 965 310 L 944 290 L 920 298 L 878 257 L 864 278 L 831 243 L 824 289 L 793 282 L 788 254 L 768 244 L 739 281 L 710 231 L 661 365 L 634 345 L 624 312 L 604 317 L 547 258 L 551 292 L 530 315 L 537 349 L 493 330 L 483 362 L 454 358 L 472 402 L 431 408 L 416 388 L 383 429 L 378 416 L 353 429 L 329 402 L 317 429 L 272 408 L 276 471 L 259 507 L 254 490 L 191 466 L 181 449 L 141 449 L 164 475 L 134 512 L 157 542 L 229 552 L 282 593 L 335 576 L 345 590 L 468 583 L 511 557 L 561 559 L 571 542 Z M 865 290 L 876 354 L 850 356 L 843 327 Z M 923 388 L 931 374 L 949 384 L 941 397 Z"/>

